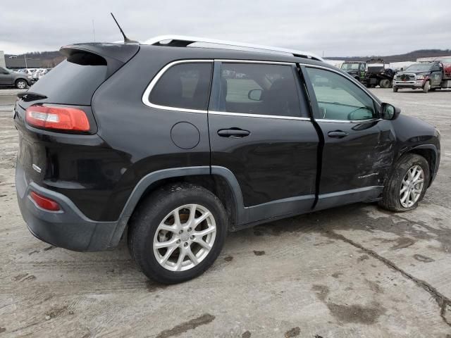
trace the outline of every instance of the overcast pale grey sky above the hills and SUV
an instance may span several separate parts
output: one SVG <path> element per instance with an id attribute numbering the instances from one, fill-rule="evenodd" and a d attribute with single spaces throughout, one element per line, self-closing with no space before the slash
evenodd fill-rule
<path id="1" fill-rule="evenodd" d="M 64 44 L 194 35 L 311 51 L 324 56 L 451 49 L 451 6 L 442 0 L 0 0 L 0 50 L 52 51 Z"/>

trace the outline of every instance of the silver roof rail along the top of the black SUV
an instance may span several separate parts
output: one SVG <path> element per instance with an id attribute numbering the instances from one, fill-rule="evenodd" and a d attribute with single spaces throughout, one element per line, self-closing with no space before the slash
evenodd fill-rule
<path id="1" fill-rule="evenodd" d="M 285 54 L 290 56 L 297 56 L 299 58 L 310 58 L 312 60 L 324 61 L 321 56 L 317 56 L 308 51 L 297 51 L 295 49 L 285 49 L 273 46 L 261 46 L 259 44 L 246 44 L 243 42 L 233 42 L 224 41 L 217 39 L 209 39 L 204 37 L 186 37 L 184 35 L 161 35 L 159 37 L 153 37 L 152 39 L 146 40 L 143 44 L 152 44 L 154 46 L 174 46 L 174 47 L 187 47 L 190 44 L 200 43 L 200 44 L 219 44 L 229 47 L 238 47 L 231 49 L 259 49 L 266 53 L 273 54 Z M 240 49 L 241 47 L 241 49 Z"/>

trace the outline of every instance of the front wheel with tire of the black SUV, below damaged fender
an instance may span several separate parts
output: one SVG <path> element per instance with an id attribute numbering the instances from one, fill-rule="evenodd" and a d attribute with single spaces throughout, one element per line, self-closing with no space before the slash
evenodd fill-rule
<path id="1" fill-rule="evenodd" d="M 421 181 L 422 178 L 422 184 L 419 182 L 419 180 L 416 180 L 414 182 L 418 183 L 411 183 L 411 186 L 414 190 L 417 191 L 417 196 L 415 196 L 414 199 L 412 199 L 412 204 L 410 204 L 409 199 L 411 199 L 411 195 L 409 194 L 409 191 L 402 192 L 402 189 L 404 186 L 404 179 L 409 179 L 409 172 L 412 173 L 411 170 L 416 168 L 416 172 L 414 173 L 414 176 L 418 175 L 420 173 L 420 169 L 422 170 L 422 175 L 419 176 L 419 180 Z M 419 156 L 416 154 L 405 154 L 403 155 L 397 163 L 395 163 L 395 167 L 393 168 L 393 172 L 388 178 L 387 184 L 385 184 L 385 187 L 383 189 L 382 193 L 382 200 L 379 201 L 379 205 L 382 208 L 385 208 L 389 211 L 395 211 L 397 213 L 409 211 L 418 206 L 419 201 L 421 201 L 424 197 L 424 194 L 426 193 L 426 189 L 428 189 L 428 182 L 429 182 L 429 165 L 428 161 L 426 161 L 426 158 L 423 156 Z M 417 188 L 417 189 L 414 189 Z M 402 198 L 405 194 L 408 194 L 407 199 L 402 202 Z"/>

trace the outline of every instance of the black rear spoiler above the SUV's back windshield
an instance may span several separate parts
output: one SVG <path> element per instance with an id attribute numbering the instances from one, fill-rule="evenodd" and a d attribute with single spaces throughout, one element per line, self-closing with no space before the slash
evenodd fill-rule
<path id="1" fill-rule="evenodd" d="M 66 58 L 82 53 L 100 56 L 106 62 L 106 77 L 109 77 L 135 56 L 139 50 L 139 44 L 85 43 L 63 46 L 59 51 Z"/>

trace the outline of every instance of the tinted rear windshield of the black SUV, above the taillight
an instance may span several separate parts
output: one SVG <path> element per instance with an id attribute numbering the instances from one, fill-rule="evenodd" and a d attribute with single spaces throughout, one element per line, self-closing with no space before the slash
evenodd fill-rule
<path id="1" fill-rule="evenodd" d="M 92 94 L 106 80 L 106 61 L 100 56 L 77 53 L 61 62 L 32 85 L 30 91 L 47 96 L 55 104 L 91 104 Z"/>

